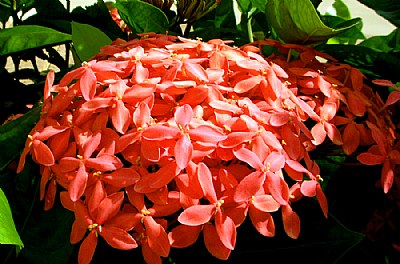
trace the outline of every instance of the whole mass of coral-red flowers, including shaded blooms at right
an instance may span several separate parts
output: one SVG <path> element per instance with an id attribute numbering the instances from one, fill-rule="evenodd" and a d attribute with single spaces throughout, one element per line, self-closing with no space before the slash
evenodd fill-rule
<path id="1" fill-rule="evenodd" d="M 328 213 L 309 154 L 323 143 L 347 155 L 371 145 L 358 159 L 383 164 L 390 189 L 400 163 L 394 126 L 364 76 L 310 48 L 258 44 L 289 55 L 146 34 L 116 40 L 57 85 L 49 73 L 18 171 L 31 153 L 46 210 L 57 186 L 66 190 L 71 243 L 83 239 L 79 263 L 90 262 L 99 235 L 122 250 L 141 245 L 146 262 L 161 263 L 201 232 L 208 251 L 227 259 L 247 216 L 274 236 L 274 212 L 297 238 L 292 203 L 316 197 Z"/>

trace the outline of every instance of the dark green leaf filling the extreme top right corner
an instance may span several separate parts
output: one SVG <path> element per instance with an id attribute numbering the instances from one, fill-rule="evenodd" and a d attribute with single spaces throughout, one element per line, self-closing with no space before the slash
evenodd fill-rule
<path id="1" fill-rule="evenodd" d="M 400 27 L 400 1 L 398 0 L 358 0 L 375 10 L 376 13 L 389 20 L 396 27 Z"/>

